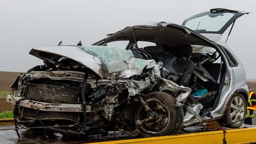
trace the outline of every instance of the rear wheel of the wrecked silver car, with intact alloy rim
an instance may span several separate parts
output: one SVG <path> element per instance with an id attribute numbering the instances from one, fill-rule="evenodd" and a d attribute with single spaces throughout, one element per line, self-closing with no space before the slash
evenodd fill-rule
<path id="1" fill-rule="evenodd" d="M 245 115 L 247 113 L 247 103 L 244 95 L 235 94 L 229 100 L 225 116 L 222 118 L 221 123 L 231 128 L 237 128 L 244 122 Z M 237 121 L 235 123 L 235 121 Z"/>

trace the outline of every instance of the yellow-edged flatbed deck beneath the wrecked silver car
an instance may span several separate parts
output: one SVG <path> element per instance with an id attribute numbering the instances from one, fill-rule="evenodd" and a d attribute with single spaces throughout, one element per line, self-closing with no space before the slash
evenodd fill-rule
<path id="1" fill-rule="evenodd" d="M 134 138 L 121 132 L 109 132 L 107 136 L 94 135 L 83 138 L 65 138 L 59 133 L 52 136 L 32 135 L 20 129 L 21 137 L 14 131 L 13 119 L 0 119 L 0 143 L 256 143 L 256 126 L 242 124 L 240 129 L 214 130 L 206 132 L 201 126 L 186 128 L 178 135 Z M 189 132 L 189 133 L 188 133 Z M 255 137 L 254 137 L 255 136 Z"/>

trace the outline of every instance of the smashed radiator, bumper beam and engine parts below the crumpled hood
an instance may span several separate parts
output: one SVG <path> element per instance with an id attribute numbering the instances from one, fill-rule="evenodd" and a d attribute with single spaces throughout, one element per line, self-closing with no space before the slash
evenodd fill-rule
<path id="1" fill-rule="evenodd" d="M 137 80 L 88 78 L 87 89 L 85 90 L 87 97 L 86 111 L 84 111 L 81 100 L 81 84 L 84 76 L 85 73 L 74 71 L 33 71 L 25 73 L 19 77 L 16 84 L 12 85 L 12 88 L 17 89 L 17 91 L 8 95 L 7 101 L 15 105 L 15 116 L 23 123 L 27 121 L 27 127 L 76 124 L 75 127 L 72 127 L 74 129 L 71 130 L 50 129 L 69 135 L 71 134 L 70 131 L 77 135 L 92 135 L 93 133 L 89 129 L 94 129 L 94 133 L 104 129 L 109 125 L 107 123 L 117 120 L 115 114 L 120 111 L 124 114 L 124 117 L 130 119 L 128 114 L 131 112 L 121 109 L 131 106 L 136 107 L 140 104 L 140 98 L 151 91 L 159 89 L 159 91 L 168 91 L 177 95 L 176 107 L 180 107 L 190 94 L 190 88 L 180 87 L 174 82 L 152 75 Z M 74 85 L 77 84 L 72 87 L 71 84 L 53 85 L 34 82 L 36 79 L 45 78 L 52 82 L 65 80 Z M 83 113 L 87 116 L 86 121 L 84 121 Z M 41 125 L 40 121 L 43 121 L 44 124 Z M 129 123 L 133 122 L 133 120 L 129 121 Z M 85 126 L 84 123 L 87 123 L 87 125 Z M 87 129 L 82 127 L 87 127 Z M 119 121 L 117 127 L 123 129 L 123 121 Z M 132 128 L 130 129 L 127 130 L 132 131 Z M 136 130 L 135 127 L 133 129 Z M 105 132 L 105 130 L 102 130 L 102 132 Z"/>

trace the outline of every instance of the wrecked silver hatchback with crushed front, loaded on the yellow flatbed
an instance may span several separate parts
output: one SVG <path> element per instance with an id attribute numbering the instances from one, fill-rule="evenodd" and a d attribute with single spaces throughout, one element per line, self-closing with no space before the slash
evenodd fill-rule
<path id="1" fill-rule="evenodd" d="M 244 13 L 215 9 L 202 15 L 226 14 Z M 120 41 L 127 43 L 109 46 Z M 18 76 L 7 97 L 17 124 L 26 127 L 63 135 L 120 130 L 147 137 L 213 120 L 239 127 L 245 117 L 242 63 L 226 43 L 185 26 L 135 25 L 92 46 L 42 47 L 30 54 L 44 65 Z"/>

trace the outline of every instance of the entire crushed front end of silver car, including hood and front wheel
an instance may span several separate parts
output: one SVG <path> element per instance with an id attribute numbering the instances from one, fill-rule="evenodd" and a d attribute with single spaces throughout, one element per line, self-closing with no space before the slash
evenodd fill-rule
<path id="1" fill-rule="evenodd" d="M 59 48 L 65 49 L 31 50 L 45 65 L 18 76 L 11 85 L 7 101 L 14 105 L 17 124 L 63 135 L 120 130 L 131 136 L 161 136 L 178 133 L 183 117 L 188 121 L 201 109 L 200 104 L 186 104 L 189 110 L 183 110 L 191 89 L 161 78 L 161 63 L 155 60 L 136 59 L 129 50 L 113 47 L 68 46 L 61 55 L 56 53 Z M 72 58 L 71 48 L 90 55 L 88 65 L 77 61 L 77 55 Z M 121 57 L 104 57 L 101 50 Z"/>

